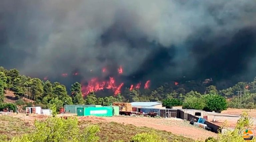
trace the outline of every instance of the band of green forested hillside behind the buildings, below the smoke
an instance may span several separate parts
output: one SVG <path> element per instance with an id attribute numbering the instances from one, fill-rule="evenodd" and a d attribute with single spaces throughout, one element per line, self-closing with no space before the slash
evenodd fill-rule
<path id="1" fill-rule="evenodd" d="M 209 86 L 208 86 L 209 85 Z M 176 100 L 180 104 L 186 102 L 186 98 L 199 98 L 205 94 L 218 94 L 227 98 L 228 107 L 238 107 L 236 91 L 242 90 L 242 107 L 254 107 L 256 100 L 256 79 L 252 82 L 238 82 L 236 85 L 223 90 L 217 90 L 214 85 L 203 84 L 200 81 L 181 83 L 165 83 L 158 88 L 130 89 L 122 88 L 121 94 L 113 96 L 111 90 L 91 92 L 82 97 L 81 85 L 74 82 L 71 86 L 64 86 L 59 82 L 42 81 L 39 78 L 31 78 L 20 75 L 16 69 L 6 70 L 0 67 L 0 102 L 4 101 L 4 91 L 11 90 L 16 98 L 24 96 L 28 92 L 35 104 L 47 108 L 50 104 L 56 104 L 57 108 L 65 104 L 101 104 L 108 105 L 110 102 L 123 101 L 164 101 Z M 30 87 L 30 92 L 28 87 Z M 68 94 L 67 89 L 70 90 Z M 179 104 L 178 103 L 178 104 Z"/>

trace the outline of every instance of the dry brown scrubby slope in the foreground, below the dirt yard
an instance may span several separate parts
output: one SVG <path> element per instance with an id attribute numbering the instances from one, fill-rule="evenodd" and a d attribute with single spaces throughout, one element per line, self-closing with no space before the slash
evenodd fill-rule
<path id="1" fill-rule="evenodd" d="M 22 135 L 24 133 L 30 133 L 33 131 L 34 120 L 44 120 L 46 116 L 36 115 L 36 116 L 0 116 L 0 123 L 6 124 L 0 126 L 1 134 L 6 135 L 7 139 L 11 139 L 15 135 Z M 153 118 L 149 118 L 153 119 Z M 8 124 L 8 125 L 7 125 Z M 157 130 L 149 127 L 137 127 L 132 124 L 117 123 L 113 121 L 107 121 L 105 118 L 100 117 L 80 117 L 79 126 L 81 129 L 90 124 L 97 124 L 100 126 L 100 136 L 101 142 L 113 142 L 115 140 L 124 140 L 128 142 L 131 137 L 142 132 L 155 131 L 161 137 L 168 139 L 172 142 L 175 139 L 179 142 L 191 142 L 191 138 L 187 138 L 181 135 L 173 134 L 171 132 Z M 153 124 L 152 124 L 153 125 Z M 200 131 L 199 131 L 200 132 Z M 190 136 L 192 137 L 192 136 Z M 193 137 L 195 138 L 195 137 Z"/>

